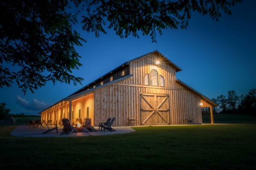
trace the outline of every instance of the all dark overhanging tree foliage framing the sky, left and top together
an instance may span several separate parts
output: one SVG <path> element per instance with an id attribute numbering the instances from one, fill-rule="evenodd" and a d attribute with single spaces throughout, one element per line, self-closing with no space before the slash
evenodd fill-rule
<path id="1" fill-rule="evenodd" d="M 15 81 L 26 94 L 28 88 L 33 92 L 48 81 L 81 83 L 81 77 L 72 75 L 81 66 L 75 46 L 85 41 L 72 29 L 79 13 L 82 29 L 96 37 L 106 34 L 108 22 L 107 28 L 121 38 L 141 32 L 156 42 L 163 29 L 186 28 L 194 11 L 218 20 L 240 1 L 74 0 L 77 13 L 72 14 L 68 0 L 1 0 L 0 87 Z"/>

